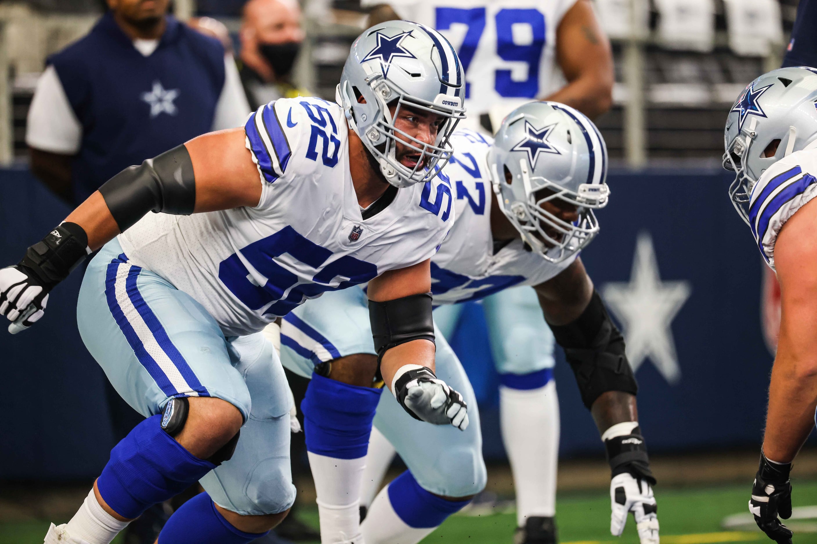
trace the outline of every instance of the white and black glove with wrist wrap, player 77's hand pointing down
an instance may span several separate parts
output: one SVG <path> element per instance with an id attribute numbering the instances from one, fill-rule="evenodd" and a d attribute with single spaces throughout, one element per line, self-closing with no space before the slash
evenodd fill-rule
<path id="1" fill-rule="evenodd" d="M 638 422 L 618 423 L 602 439 L 612 471 L 610 533 L 620 537 L 627 514 L 632 512 L 641 544 L 659 544 L 658 505 L 652 487 L 655 477 Z"/>

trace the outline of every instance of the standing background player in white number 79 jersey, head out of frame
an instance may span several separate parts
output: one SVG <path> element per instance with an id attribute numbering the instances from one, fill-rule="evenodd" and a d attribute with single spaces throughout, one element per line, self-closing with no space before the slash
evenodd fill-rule
<path id="1" fill-rule="evenodd" d="M 391 0 L 371 16 L 398 15 L 433 26 L 459 51 L 468 109 L 461 128 L 493 135 L 507 113 L 529 100 L 568 104 L 591 119 L 609 108 L 613 59 L 591 0 Z M 555 539 L 560 421 L 554 340 L 534 290 L 499 286 L 483 294 L 481 306 L 501 384 L 502 442 L 514 475 L 517 521 L 551 531 Z M 462 309 L 449 305 L 435 312 L 443 334 L 453 333 Z M 537 425 L 519 424 L 532 418 Z M 364 494 L 364 503 L 371 498 Z"/>

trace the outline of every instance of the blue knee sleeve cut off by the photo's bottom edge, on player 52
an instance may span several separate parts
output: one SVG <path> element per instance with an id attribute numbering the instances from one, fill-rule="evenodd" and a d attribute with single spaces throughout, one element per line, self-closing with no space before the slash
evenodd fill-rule
<path id="1" fill-rule="evenodd" d="M 158 544 L 244 544 L 267 533 L 269 531 L 244 533 L 235 529 L 216 510 L 216 504 L 205 491 L 185 502 L 170 516 L 158 535 Z"/>

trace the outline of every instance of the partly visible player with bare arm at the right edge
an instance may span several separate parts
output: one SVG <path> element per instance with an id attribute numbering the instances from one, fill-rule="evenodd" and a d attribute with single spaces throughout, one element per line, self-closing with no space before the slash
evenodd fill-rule
<path id="1" fill-rule="evenodd" d="M 749 84 L 725 128 L 730 197 L 780 283 L 780 334 L 766 433 L 749 511 L 772 540 L 791 544 L 789 471 L 817 406 L 817 69 L 773 70 Z"/>

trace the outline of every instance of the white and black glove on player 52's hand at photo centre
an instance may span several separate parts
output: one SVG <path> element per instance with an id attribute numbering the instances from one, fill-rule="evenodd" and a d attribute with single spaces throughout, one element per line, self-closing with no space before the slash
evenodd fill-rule
<path id="1" fill-rule="evenodd" d="M 468 405 L 458 391 L 438 379 L 431 369 L 404 365 L 392 381 L 391 391 L 408 415 L 434 425 L 468 427 Z"/>

